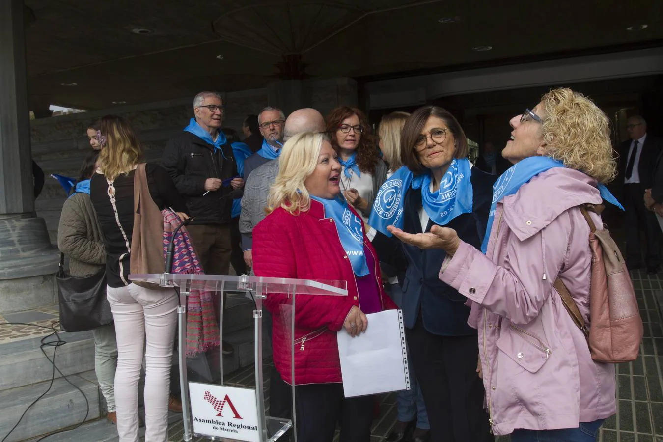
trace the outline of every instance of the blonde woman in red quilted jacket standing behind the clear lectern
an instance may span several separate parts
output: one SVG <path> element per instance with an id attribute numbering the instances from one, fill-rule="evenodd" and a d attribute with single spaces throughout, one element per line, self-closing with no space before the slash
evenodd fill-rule
<path id="1" fill-rule="evenodd" d="M 366 330 L 365 313 L 394 309 L 381 284 L 379 262 L 361 217 L 341 195 L 341 165 L 324 135 L 302 133 L 283 147 L 280 170 L 269 195 L 269 215 L 253 230 L 257 276 L 345 280 L 347 296 L 297 297 L 295 379 L 290 340 L 280 304 L 269 296 L 274 315 L 274 364 L 283 380 L 295 384 L 299 442 L 327 442 L 341 424 L 341 442 L 371 439 L 373 397 L 345 398 L 337 332 L 357 336 Z"/>

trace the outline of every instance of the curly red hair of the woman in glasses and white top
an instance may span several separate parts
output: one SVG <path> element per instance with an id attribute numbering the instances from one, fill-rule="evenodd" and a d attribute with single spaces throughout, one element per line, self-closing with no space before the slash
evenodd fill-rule
<path id="1" fill-rule="evenodd" d="M 356 107 L 339 106 L 330 112 L 326 121 L 327 132 L 331 137 L 331 146 L 336 152 L 339 151 L 338 141 L 336 140 L 336 131 L 341 123 L 343 123 L 343 120 L 352 117 L 353 115 L 357 115 L 357 118 L 359 118 L 359 124 L 364 128 L 361 133 L 361 138 L 359 138 L 359 144 L 357 145 L 357 158 L 355 161 L 361 172 L 372 174 L 373 170 L 375 170 L 375 165 L 380 160 L 380 151 L 375 143 L 373 134 L 371 133 L 369 121 L 361 110 Z"/>

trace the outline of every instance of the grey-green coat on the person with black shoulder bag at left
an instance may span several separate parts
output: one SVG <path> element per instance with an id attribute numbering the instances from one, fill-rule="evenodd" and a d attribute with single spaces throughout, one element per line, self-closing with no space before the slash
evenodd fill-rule
<path id="1" fill-rule="evenodd" d="M 58 227 L 58 248 L 69 256 L 72 276 L 94 274 L 106 263 L 101 226 L 87 193 L 74 193 L 64 201 Z"/>

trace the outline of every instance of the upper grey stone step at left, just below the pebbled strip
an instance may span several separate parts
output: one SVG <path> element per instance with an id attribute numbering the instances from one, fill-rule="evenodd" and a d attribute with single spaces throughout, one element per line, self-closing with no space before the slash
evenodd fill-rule
<path id="1" fill-rule="evenodd" d="M 65 376 L 94 369 L 94 339 L 91 331 L 60 332 L 66 344 L 45 347 L 44 352 L 53 359 Z M 56 341 L 50 337 L 48 341 Z M 23 339 L 0 344 L 0 391 L 10 390 L 50 380 L 53 366 L 39 348 L 41 338 Z M 56 378 L 60 373 L 56 370 Z M 2 402 L 0 402 L 1 404 Z"/>

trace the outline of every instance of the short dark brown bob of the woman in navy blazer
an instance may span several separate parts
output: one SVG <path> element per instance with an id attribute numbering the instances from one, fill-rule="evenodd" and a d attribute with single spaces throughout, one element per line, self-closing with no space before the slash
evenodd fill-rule
<path id="1" fill-rule="evenodd" d="M 400 135 L 400 159 L 413 174 L 424 172 L 424 166 L 419 162 L 414 144 L 430 117 L 442 119 L 453 134 L 453 138 L 458 142 L 455 154 L 453 155 L 454 158 L 465 158 L 467 156 L 467 137 L 465 137 L 465 131 L 463 131 L 460 123 L 453 117 L 452 113 L 440 106 L 428 105 L 420 107 L 405 121 L 403 131 Z"/>

